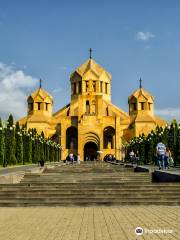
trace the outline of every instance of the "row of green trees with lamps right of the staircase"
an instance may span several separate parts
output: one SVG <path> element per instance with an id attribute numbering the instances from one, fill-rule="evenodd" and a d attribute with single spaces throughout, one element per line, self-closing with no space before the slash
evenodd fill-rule
<path id="1" fill-rule="evenodd" d="M 180 125 L 174 120 L 169 126 L 164 128 L 156 127 L 148 136 L 141 135 L 132 138 L 126 145 L 126 157 L 131 150 L 140 157 L 142 164 L 156 163 L 156 145 L 163 142 L 170 149 L 175 160 L 180 162 Z"/>

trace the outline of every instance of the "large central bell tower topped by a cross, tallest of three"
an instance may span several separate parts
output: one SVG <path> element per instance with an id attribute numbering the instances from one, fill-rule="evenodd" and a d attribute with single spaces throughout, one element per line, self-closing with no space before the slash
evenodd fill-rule
<path id="1" fill-rule="evenodd" d="M 89 53 L 70 76 L 71 100 L 80 100 L 81 114 L 95 115 L 101 100 L 111 101 L 111 75 L 92 59 L 92 49 Z"/>

